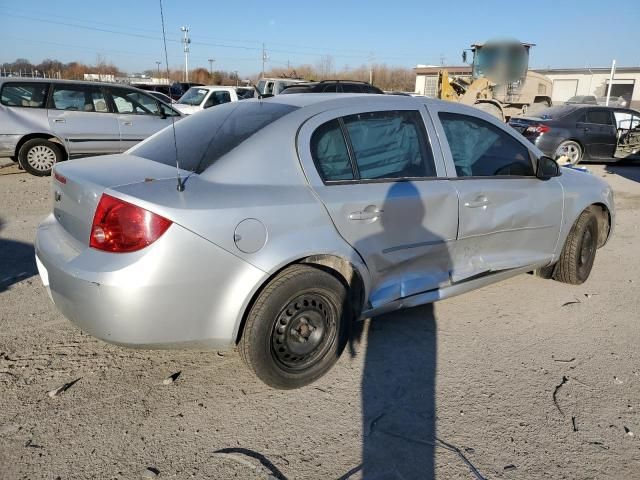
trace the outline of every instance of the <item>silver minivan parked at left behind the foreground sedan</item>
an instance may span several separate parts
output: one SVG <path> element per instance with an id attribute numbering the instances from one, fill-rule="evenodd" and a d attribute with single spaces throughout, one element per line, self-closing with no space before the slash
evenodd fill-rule
<path id="1" fill-rule="evenodd" d="M 0 78 L 0 157 L 33 175 L 49 175 L 67 158 L 124 152 L 179 118 L 124 85 Z"/>

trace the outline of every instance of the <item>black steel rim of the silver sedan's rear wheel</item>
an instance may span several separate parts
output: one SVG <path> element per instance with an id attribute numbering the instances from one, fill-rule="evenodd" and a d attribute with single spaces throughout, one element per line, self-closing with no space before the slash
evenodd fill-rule
<path id="1" fill-rule="evenodd" d="M 271 354 L 284 369 L 304 370 L 331 348 L 337 330 L 337 308 L 326 296 L 296 296 L 279 313 L 271 334 Z"/>

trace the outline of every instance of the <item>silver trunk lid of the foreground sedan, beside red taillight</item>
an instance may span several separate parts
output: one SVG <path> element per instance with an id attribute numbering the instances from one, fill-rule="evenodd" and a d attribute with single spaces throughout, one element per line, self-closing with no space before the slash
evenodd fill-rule
<path id="1" fill-rule="evenodd" d="M 54 167 L 52 177 L 55 218 L 71 236 L 88 245 L 93 216 L 105 190 L 176 178 L 176 167 L 133 155 L 108 155 L 59 163 Z"/>

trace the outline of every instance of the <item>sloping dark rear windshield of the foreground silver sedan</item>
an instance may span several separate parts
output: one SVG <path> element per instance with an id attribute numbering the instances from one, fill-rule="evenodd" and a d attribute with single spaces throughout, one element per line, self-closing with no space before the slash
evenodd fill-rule
<path id="1" fill-rule="evenodd" d="M 176 122 L 175 144 L 173 128 L 169 126 L 127 153 L 175 165 L 177 145 L 180 168 L 202 173 L 251 135 L 297 109 L 252 100 L 218 105 Z"/>

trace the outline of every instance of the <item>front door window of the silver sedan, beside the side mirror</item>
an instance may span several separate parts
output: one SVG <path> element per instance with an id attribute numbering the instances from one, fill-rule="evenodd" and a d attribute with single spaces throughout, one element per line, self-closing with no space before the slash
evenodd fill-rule
<path id="1" fill-rule="evenodd" d="M 470 115 L 439 117 L 459 177 L 534 175 L 529 150 L 507 132 Z"/>

